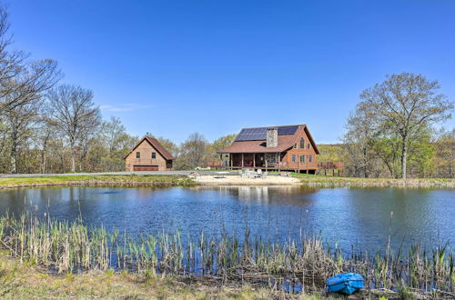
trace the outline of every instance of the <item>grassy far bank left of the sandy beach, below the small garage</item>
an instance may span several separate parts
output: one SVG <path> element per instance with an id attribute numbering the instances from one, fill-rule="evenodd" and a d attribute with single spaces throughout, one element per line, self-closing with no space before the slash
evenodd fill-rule
<path id="1" fill-rule="evenodd" d="M 39 185 L 191 185 L 183 175 L 62 175 L 0 178 L 2 187 Z"/>

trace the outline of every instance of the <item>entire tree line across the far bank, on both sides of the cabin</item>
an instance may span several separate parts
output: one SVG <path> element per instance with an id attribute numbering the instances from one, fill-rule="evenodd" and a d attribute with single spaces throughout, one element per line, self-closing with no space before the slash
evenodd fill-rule
<path id="1" fill-rule="evenodd" d="M 55 60 L 32 60 L 12 45 L 0 6 L 0 173 L 125 170 L 123 158 L 139 138 L 118 118 L 104 120 L 91 90 L 60 84 Z M 439 91 L 438 81 L 422 75 L 387 76 L 360 95 L 341 143 L 319 145 L 319 162 L 342 161 L 350 176 L 453 178 L 455 130 L 437 129 L 453 103 Z M 181 170 L 218 162 L 217 150 L 235 138 L 210 143 L 194 133 L 176 145 L 157 137 Z"/>

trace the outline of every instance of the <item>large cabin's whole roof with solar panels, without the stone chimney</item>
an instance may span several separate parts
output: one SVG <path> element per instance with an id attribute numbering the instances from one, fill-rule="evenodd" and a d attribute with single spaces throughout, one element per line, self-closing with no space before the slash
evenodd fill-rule
<path id="1" fill-rule="evenodd" d="M 278 128 L 278 145 L 267 147 L 265 132 L 268 128 Z M 295 128 L 295 129 L 294 129 Z M 219 150 L 218 153 L 274 153 L 284 152 L 297 143 L 298 135 L 304 130 L 316 154 L 319 149 L 309 133 L 307 125 L 284 125 L 269 127 L 243 128 L 238 138 L 231 145 Z"/>

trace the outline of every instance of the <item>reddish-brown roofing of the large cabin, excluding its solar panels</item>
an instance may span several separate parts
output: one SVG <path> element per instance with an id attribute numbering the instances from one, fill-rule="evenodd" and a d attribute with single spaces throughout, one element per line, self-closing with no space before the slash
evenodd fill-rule
<path id="1" fill-rule="evenodd" d="M 226 148 L 219 150 L 218 153 L 274 153 L 274 152 L 284 152 L 288 149 L 292 148 L 295 143 L 298 143 L 298 135 L 301 132 L 301 128 L 305 131 L 308 135 L 309 142 L 313 146 L 316 154 L 319 155 L 319 149 L 316 143 L 313 140 L 313 137 L 309 133 L 307 125 L 283 125 L 283 126 L 267 126 L 267 127 L 255 127 L 255 128 L 242 128 L 240 133 L 245 135 L 245 131 L 248 129 L 264 129 L 267 128 L 286 128 L 286 127 L 293 127 L 297 126 L 298 128 L 292 135 L 285 134 L 280 135 L 278 131 L 278 146 L 276 147 L 267 147 L 266 145 L 266 138 L 262 134 L 258 134 L 258 138 L 255 140 L 244 140 L 244 139 L 236 139 L 234 143 L 227 146 Z M 254 136 L 254 134 L 253 134 Z M 254 138 L 254 137 L 253 137 Z"/>

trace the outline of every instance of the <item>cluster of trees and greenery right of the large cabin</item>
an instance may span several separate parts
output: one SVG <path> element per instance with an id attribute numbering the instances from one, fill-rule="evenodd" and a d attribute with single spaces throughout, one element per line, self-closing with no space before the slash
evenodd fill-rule
<path id="1" fill-rule="evenodd" d="M 342 161 L 356 177 L 454 177 L 455 130 L 437 126 L 453 102 L 422 75 L 388 75 L 360 95 L 339 145 L 321 146 L 319 161 Z"/>

